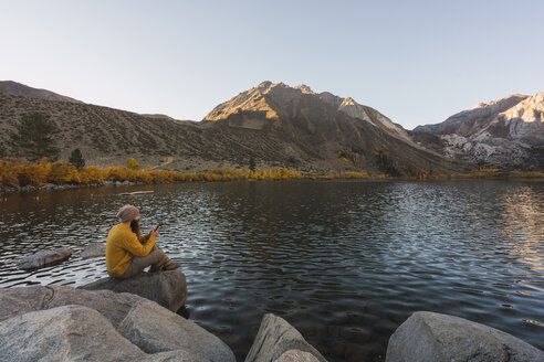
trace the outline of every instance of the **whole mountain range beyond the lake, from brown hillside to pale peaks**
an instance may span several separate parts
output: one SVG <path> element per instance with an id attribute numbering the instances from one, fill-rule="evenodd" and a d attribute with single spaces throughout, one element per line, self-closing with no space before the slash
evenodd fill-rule
<path id="1" fill-rule="evenodd" d="M 263 82 L 201 121 L 84 104 L 45 89 L 0 82 L 0 130 L 41 111 L 55 124 L 61 159 L 80 148 L 87 164 L 181 171 L 286 167 L 302 172 L 394 175 L 457 173 L 477 167 L 542 169 L 544 93 L 480 104 L 409 131 L 378 110 L 328 92 Z M 0 139 L 0 141 L 2 141 Z"/>

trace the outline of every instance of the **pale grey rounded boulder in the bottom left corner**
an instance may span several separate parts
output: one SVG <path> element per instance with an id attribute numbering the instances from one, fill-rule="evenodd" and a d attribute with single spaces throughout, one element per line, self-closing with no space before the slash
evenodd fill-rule
<path id="1" fill-rule="evenodd" d="M 100 312 L 65 306 L 0 323 L 2 361 L 130 361 L 144 358 Z"/>

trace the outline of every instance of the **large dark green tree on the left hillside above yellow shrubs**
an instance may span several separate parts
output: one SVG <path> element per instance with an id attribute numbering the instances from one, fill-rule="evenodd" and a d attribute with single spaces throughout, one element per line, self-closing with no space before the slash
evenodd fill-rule
<path id="1" fill-rule="evenodd" d="M 51 137 L 54 124 L 49 116 L 39 111 L 21 116 L 21 121 L 15 125 L 15 131 L 10 131 L 10 146 L 15 155 L 38 161 L 42 158 L 56 159 L 59 149 L 54 147 Z"/>

